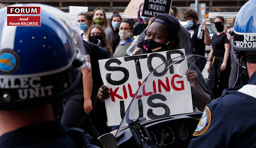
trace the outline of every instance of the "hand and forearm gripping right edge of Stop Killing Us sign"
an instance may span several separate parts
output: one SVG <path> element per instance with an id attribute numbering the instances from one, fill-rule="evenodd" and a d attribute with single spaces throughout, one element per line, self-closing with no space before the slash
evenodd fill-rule
<path id="1" fill-rule="evenodd" d="M 196 98 L 196 108 L 200 111 L 204 110 L 204 107 L 212 101 L 212 98 L 198 85 L 198 74 L 192 69 L 187 70 L 187 80 L 190 82 L 190 86 L 194 91 Z M 204 80 L 199 80 L 204 81 Z M 210 98 L 210 100 L 209 100 Z"/>

